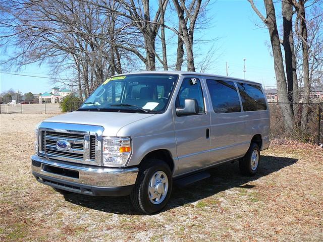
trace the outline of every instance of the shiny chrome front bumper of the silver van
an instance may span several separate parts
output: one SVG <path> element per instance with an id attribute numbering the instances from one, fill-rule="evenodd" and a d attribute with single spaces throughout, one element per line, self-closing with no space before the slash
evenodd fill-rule
<path id="1" fill-rule="evenodd" d="M 78 178 L 70 177 L 54 172 L 44 170 L 44 166 L 58 167 L 61 169 L 78 173 Z M 46 177 L 58 178 L 73 183 L 95 187 L 124 187 L 136 183 L 138 168 L 106 168 L 102 166 L 91 166 L 76 164 L 64 161 L 51 160 L 33 155 L 31 157 L 32 173 L 40 174 Z"/>

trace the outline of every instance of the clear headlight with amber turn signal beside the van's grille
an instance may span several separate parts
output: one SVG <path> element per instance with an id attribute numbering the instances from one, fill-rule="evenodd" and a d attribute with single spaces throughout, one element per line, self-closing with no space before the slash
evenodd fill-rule
<path id="1" fill-rule="evenodd" d="M 103 137 L 103 165 L 125 166 L 131 154 L 130 138 Z"/>

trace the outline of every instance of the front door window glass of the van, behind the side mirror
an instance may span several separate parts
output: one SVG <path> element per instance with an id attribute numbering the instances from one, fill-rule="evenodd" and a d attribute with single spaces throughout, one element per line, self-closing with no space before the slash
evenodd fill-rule
<path id="1" fill-rule="evenodd" d="M 185 78 L 176 99 L 176 107 L 184 108 L 185 99 L 195 99 L 198 105 L 199 113 L 205 112 L 204 100 L 200 81 L 195 78 L 197 82 L 192 81 L 191 78 Z"/>

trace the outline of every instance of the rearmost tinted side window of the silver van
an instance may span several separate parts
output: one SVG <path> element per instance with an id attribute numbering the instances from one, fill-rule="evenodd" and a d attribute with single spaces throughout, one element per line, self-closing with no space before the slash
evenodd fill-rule
<path id="1" fill-rule="evenodd" d="M 258 111 L 267 109 L 266 100 L 264 99 L 264 95 L 259 86 L 247 83 L 237 83 L 237 85 L 244 111 Z"/>

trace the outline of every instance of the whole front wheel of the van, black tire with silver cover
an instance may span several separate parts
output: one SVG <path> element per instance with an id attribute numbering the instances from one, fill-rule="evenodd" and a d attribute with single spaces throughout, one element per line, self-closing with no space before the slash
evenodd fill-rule
<path id="1" fill-rule="evenodd" d="M 163 160 L 147 159 L 139 169 L 135 187 L 130 194 L 131 203 L 142 213 L 157 213 L 166 206 L 172 187 L 170 167 Z"/>

